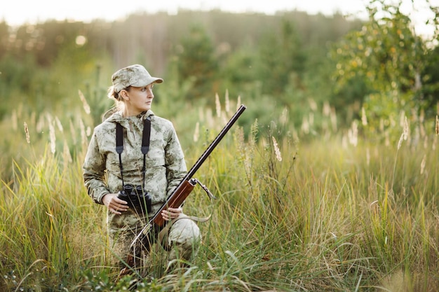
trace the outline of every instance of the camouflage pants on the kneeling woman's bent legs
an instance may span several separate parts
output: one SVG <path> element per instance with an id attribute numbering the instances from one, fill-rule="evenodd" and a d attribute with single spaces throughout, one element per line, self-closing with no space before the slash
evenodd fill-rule
<path id="1" fill-rule="evenodd" d="M 194 258 L 201 242 L 198 225 L 184 215 L 168 223 L 163 230 L 151 232 L 152 236 L 140 241 L 133 252 L 132 249 L 130 250 L 130 244 L 140 230 L 140 226 L 129 230 L 109 230 L 110 262 L 113 267 L 119 269 L 126 267 L 128 254 L 131 253 L 133 263 L 129 264 L 144 277 L 148 274 L 149 267 L 154 264 L 151 260 L 160 259 L 163 251 L 167 253 L 166 267 L 169 267 L 179 260 L 189 261 Z M 153 249 L 153 246 L 156 249 Z"/>

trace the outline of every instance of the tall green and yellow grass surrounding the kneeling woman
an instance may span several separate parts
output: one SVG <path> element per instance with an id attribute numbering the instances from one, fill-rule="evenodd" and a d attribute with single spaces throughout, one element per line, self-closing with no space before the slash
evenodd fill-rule
<path id="1" fill-rule="evenodd" d="M 216 111 L 189 109 L 198 127 L 180 133 L 194 139 L 190 151 L 182 140 L 188 166 L 239 104 L 227 103 Z M 67 145 L 75 151 L 60 151 L 72 140 L 55 137 L 53 153 L 54 120 L 46 124 L 41 154 L 32 132 L 29 144 L 25 132 L 18 135 L 31 154 L 15 162 L 0 189 L 0 290 L 122 291 L 132 279 L 114 282 L 105 260 L 104 207 L 83 188 L 86 145 L 78 141 L 89 122 L 73 122 L 83 125 L 70 131 L 78 132 L 76 146 Z M 211 205 L 196 189 L 184 206 L 191 215 L 213 212 L 199 224 L 198 256 L 173 272 L 155 267 L 137 291 L 434 291 L 434 130 L 385 144 L 357 131 L 312 133 L 310 126 L 295 130 L 280 116 L 271 125 L 255 120 L 250 129 L 234 127 L 196 174 L 217 200 Z"/>

